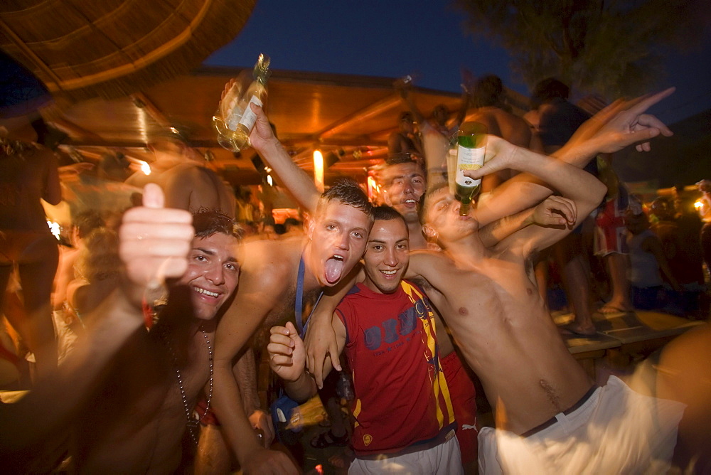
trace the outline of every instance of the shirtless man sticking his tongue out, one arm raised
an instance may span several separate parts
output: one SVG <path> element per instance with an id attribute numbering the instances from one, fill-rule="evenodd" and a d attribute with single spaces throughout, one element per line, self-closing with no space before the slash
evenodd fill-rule
<path id="1" fill-rule="evenodd" d="M 247 242 L 240 250 L 240 287 L 220 321 L 215 342 L 214 405 L 245 473 L 292 474 L 296 467 L 285 454 L 260 447 L 239 402 L 241 388 L 232 375 L 232 361 L 264 321 L 272 326 L 290 311 L 300 311 L 294 308 L 297 298 L 308 301 L 351 272 L 365 250 L 373 216 L 368 197 L 355 183 L 338 183 L 319 198 L 309 176 L 274 137 L 262 109 L 252 110 L 257 114 L 252 146 L 276 171 L 280 183 L 297 190 L 294 198 L 311 216 L 303 237 Z"/>

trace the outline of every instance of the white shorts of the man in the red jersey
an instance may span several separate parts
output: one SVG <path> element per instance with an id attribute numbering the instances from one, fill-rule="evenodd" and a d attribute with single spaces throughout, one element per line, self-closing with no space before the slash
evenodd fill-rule
<path id="1" fill-rule="evenodd" d="M 351 462 L 348 475 L 353 474 L 413 474 L 463 475 L 459 442 L 451 437 L 431 449 L 382 460 L 358 459 Z"/>

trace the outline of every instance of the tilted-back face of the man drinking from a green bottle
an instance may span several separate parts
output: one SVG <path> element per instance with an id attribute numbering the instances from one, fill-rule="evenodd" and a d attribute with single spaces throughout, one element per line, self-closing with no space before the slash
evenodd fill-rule
<path id="1" fill-rule="evenodd" d="M 479 229 L 479 223 L 471 216 L 471 211 L 469 215 L 459 215 L 461 203 L 456 201 L 446 186 L 427 196 L 426 206 L 424 233 L 428 237 L 436 233 L 444 246 Z"/>

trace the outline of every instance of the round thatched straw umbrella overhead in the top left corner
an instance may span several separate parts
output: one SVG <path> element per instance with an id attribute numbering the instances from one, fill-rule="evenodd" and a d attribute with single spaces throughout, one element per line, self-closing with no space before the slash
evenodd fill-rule
<path id="1" fill-rule="evenodd" d="M 62 102 L 122 97 L 196 68 L 255 1 L 4 1 L 0 48 Z"/>

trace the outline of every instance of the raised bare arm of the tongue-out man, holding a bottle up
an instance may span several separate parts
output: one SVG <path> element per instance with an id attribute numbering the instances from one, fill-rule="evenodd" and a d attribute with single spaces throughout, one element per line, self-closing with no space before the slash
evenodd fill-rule
<path id="1" fill-rule="evenodd" d="M 315 213 L 321 193 L 316 189 L 313 179 L 294 164 L 292 157 L 287 154 L 282 143 L 274 136 L 269 119 L 264 115 L 262 107 L 255 104 L 251 104 L 251 107 L 252 111 L 257 114 L 255 128 L 250 134 L 252 146 L 272 167 L 279 178 L 279 183 L 282 183 L 289 193 L 292 193 L 299 206 L 309 213 Z"/>

